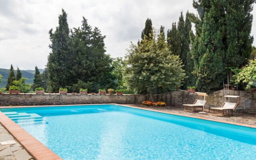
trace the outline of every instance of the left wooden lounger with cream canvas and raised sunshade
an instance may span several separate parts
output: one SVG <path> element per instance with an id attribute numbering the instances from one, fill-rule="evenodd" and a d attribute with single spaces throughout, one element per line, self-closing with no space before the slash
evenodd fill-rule
<path id="1" fill-rule="evenodd" d="M 198 96 L 206 96 L 207 100 L 198 100 Z M 184 112 L 188 111 L 193 113 L 194 111 L 196 111 L 196 107 L 200 107 L 203 110 L 203 107 L 206 105 L 207 102 L 208 102 L 208 94 L 202 93 L 202 92 L 196 92 L 196 101 L 194 102 L 194 104 L 183 104 L 183 106 L 185 106 Z M 186 108 L 192 108 L 192 111 L 186 110 Z"/>

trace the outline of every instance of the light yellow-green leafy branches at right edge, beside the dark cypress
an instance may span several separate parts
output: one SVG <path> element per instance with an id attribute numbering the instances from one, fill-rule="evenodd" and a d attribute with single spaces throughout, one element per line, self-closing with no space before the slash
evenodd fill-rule
<path id="1" fill-rule="evenodd" d="M 256 59 L 250 60 L 242 71 L 234 75 L 236 84 L 240 82 L 247 84 L 246 89 L 256 87 Z"/>

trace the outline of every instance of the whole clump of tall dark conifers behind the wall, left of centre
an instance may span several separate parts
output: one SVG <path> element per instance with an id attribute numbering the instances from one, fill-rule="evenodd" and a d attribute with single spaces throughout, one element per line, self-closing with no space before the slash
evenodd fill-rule
<path id="1" fill-rule="evenodd" d="M 80 88 L 95 92 L 97 88 L 115 86 L 112 58 L 105 54 L 106 36 L 97 27 L 92 30 L 86 18 L 83 17 L 81 27 L 69 30 L 67 14 L 62 10 L 59 26 L 49 33 L 52 42 L 47 64 L 49 90 L 56 92 L 59 87 L 66 87 L 72 92 Z"/>

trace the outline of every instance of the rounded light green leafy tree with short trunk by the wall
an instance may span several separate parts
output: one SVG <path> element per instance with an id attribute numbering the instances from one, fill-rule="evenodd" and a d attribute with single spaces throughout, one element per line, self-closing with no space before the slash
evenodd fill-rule
<path id="1" fill-rule="evenodd" d="M 161 87 L 164 92 L 174 90 L 184 79 L 184 70 L 178 56 L 171 54 L 163 34 L 144 37 L 142 43 L 131 44 L 126 55 L 125 79 L 129 89 L 146 88 L 150 99 Z"/>

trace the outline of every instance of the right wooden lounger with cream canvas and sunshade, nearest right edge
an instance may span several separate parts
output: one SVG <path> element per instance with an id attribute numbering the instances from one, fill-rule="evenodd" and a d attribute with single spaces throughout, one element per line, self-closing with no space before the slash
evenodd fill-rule
<path id="1" fill-rule="evenodd" d="M 225 97 L 225 102 L 224 102 L 224 104 L 222 104 L 221 107 L 211 108 L 211 110 L 213 110 L 212 116 L 214 116 L 214 111 L 215 110 L 221 110 L 222 111 L 222 115 L 221 115 L 222 117 L 224 115 L 224 111 L 225 110 L 230 110 L 231 111 L 231 115 L 233 115 L 233 111 L 236 109 L 236 106 L 239 103 L 239 97 L 240 96 L 229 96 L 228 95 L 228 96 L 224 96 L 224 97 Z M 228 99 L 229 98 L 238 98 L 238 101 L 236 103 L 231 103 L 231 102 L 229 102 L 229 100 L 227 101 L 226 98 L 228 98 Z"/>

